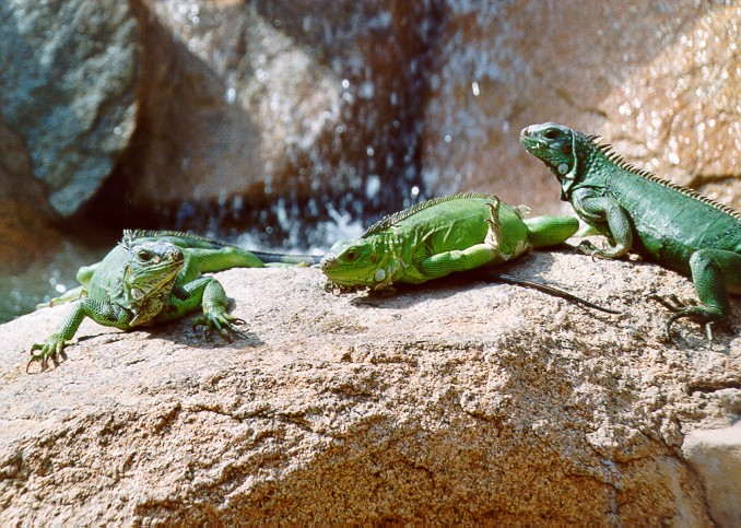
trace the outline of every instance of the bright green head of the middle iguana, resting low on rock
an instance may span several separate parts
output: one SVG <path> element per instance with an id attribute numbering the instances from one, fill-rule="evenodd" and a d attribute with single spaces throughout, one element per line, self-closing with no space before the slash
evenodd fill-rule
<path id="1" fill-rule="evenodd" d="M 389 255 L 374 238 L 339 240 L 321 259 L 321 271 L 340 286 L 384 288 L 391 284 Z"/>

